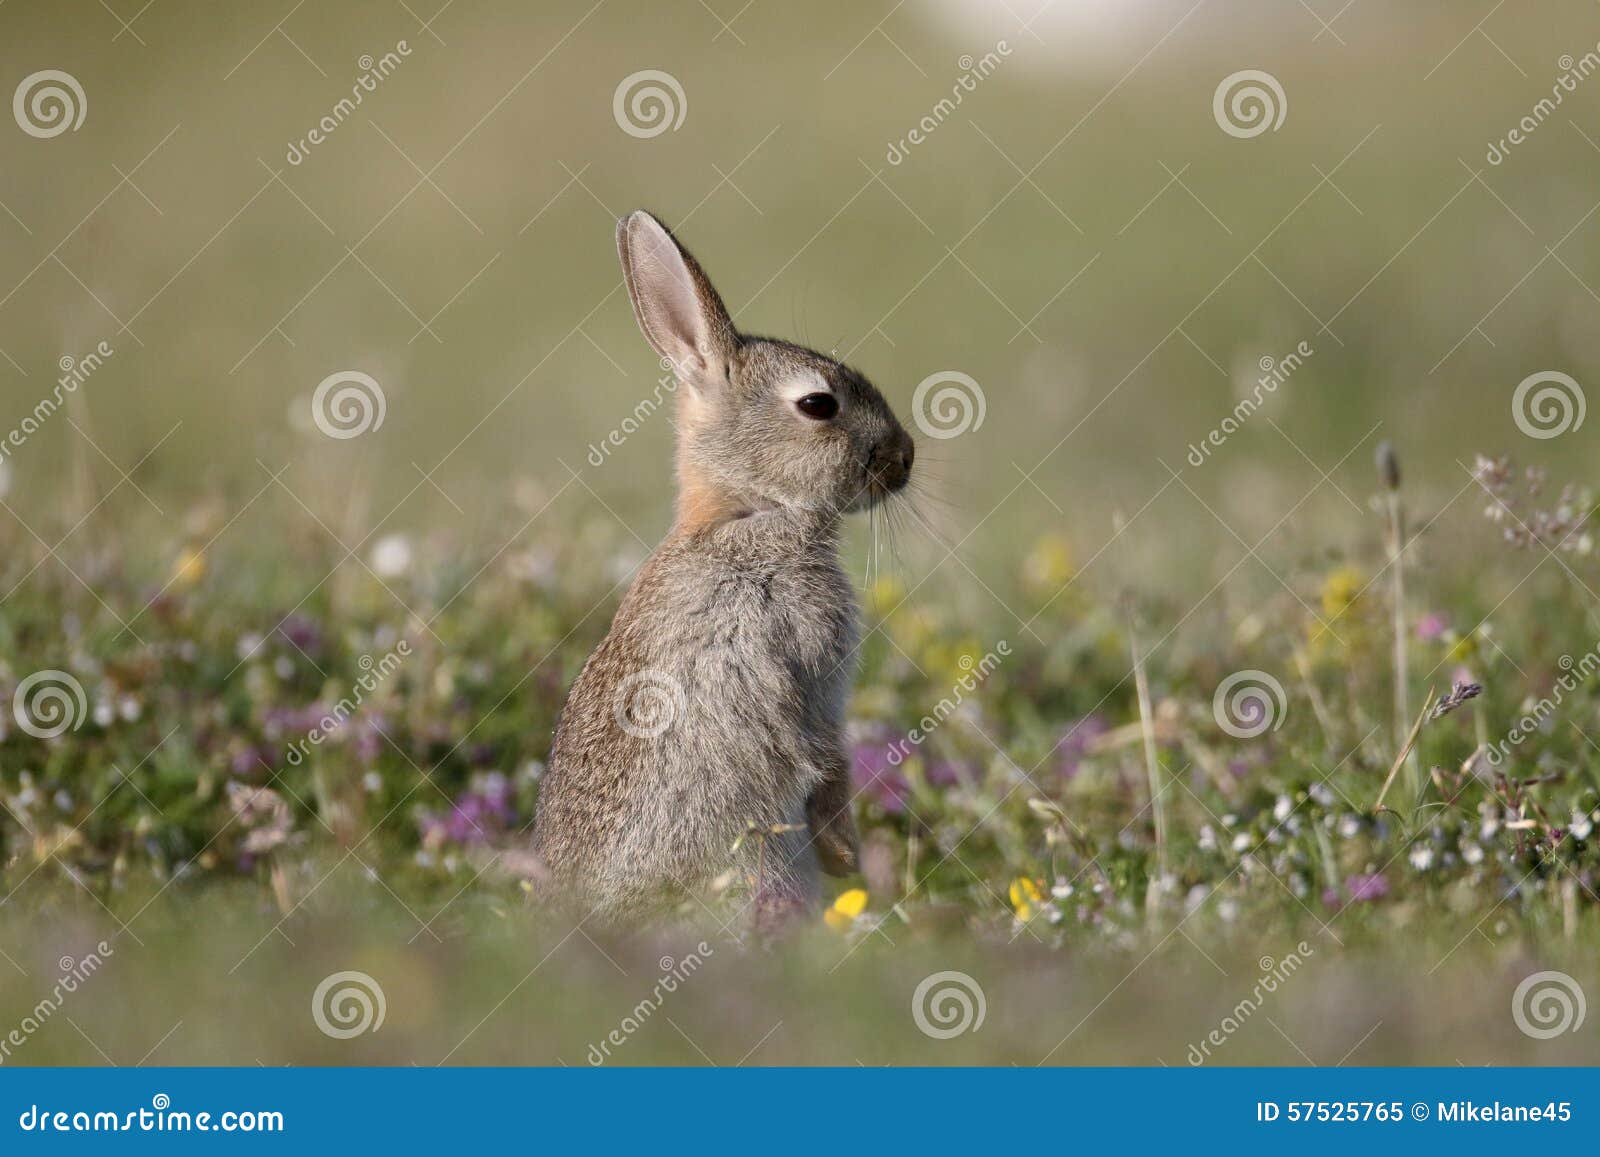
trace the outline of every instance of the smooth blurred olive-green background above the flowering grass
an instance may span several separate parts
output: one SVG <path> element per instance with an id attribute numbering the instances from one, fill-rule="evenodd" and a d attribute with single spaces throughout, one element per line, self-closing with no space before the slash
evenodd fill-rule
<path id="1" fill-rule="evenodd" d="M 0 426 L 59 357 L 117 350 L 77 419 L 110 461 L 59 421 L 10 458 L 8 501 L 51 542 L 139 462 L 174 538 L 186 504 L 214 501 L 210 536 L 288 464 L 355 538 L 493 549 L 522 485 L 531 509 L 560 493 L 555 520 L 637 546 L 614 514 L 653 544 L 670 426 L 586 461 L 658 374 L 611 240 L 634 206 L 680 229 L 742 326 L 848 354 L 902 411 L 931 373 L 981 384 L 982 427 L 925 438 L 920 461 L 941 533 L 984 574 L 1014 568 L 1018 528 L 1050 523 L 1090 557 L 1114 512 L 1150 502 L 1117 581 L 1187 587 L 1315 488 L 1262 546 L 1314 554 L 1371 530 L 1347 496 L 1371 491 L 1379 438 L 1432 506 L 1475 450 L 1587 458 L 1587 430 L 1522 435 L 1510 394 L 1600 365 L 1600 85 L 1504 163 L 1485 154 L 1563 54 L 1595 48 L 1590 3 L 160 0 L 126 29 L 72 8 L 0 13 L 6 91 L 58 67 L 88 99 L 80 131 L 0 133 Z M 411 54 L 290 165 L 360 58 L 400 40 Z M 963 56 L 1000 42 L 891 165 Z M 643 69 L 685 94 L 678 128 L 648 139 L 613 117 Z M 1218 126 L 1213 93 L 1240 69 L 1280 82 L 1278 130 Z M 1259 358 L 1301 341 L 1315 352 L 1293 381 L 1186 462 Z M 309 427 L 339 370 L 381 382 L 374 435 Z M 566 467 L 582 485 L 562 490 Z M 75 470 L 93 482 L 72 496 Z M 125 488 L 104 514 L 142 504 Z M 283 514 L 309 525 L 274 490 L 222 546 Z M 1454 514 L 1435 534 L 1478 533 L 1475 504 Z M 936 586 L 987 602 L 954 566 Z"/>

